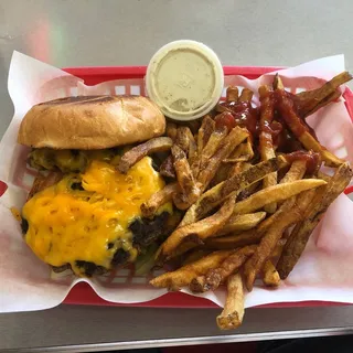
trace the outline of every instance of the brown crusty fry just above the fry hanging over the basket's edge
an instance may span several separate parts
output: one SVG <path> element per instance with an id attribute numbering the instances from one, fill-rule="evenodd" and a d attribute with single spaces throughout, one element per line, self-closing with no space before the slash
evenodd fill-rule
<path id="1" fill-rule="evenodd" d="M 210 269 L 206 275 L 194 278 L 189 288 L 193 292 L 215 290 L 254 254 L 256 245 L 245 246 L 231 254 L 217 268 Z"/>

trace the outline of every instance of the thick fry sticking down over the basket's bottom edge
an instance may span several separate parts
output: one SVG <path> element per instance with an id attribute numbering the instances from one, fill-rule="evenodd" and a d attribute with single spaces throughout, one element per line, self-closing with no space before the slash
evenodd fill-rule
<path id="1" fill-rule="evenodd" d="M 222 313 L 217 317 L 221 330 L 238 328 L 244 317 L 244 286 L 239 274 L 233 275 L 227 281 L 227 299 Z"/>

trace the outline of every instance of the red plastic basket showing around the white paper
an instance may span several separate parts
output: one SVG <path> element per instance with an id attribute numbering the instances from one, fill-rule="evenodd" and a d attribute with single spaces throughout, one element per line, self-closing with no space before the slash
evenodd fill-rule
<path id="1" fill-rule="evenodd" d="M 86 85 L 97 85 L 99 83 L 113 79 L 124 78 L 142 78 L 146 74 L 146 66 L 127 66 L 127 67 L 67 67 L 65 72 L 82 78 Z M 225 66 L 225 75 L 243 75 L 254 79 L 282 67 L 252 67 L 252 66 Z M 344 93 L 346 108 L 353 120 L 353 93 L 346 88 Z M 0 195 L 4 192 L 6 185 L 0 182 Z M 346 189 L 345 193 L 353 192 L 353 186 Z M 88 306 L 120 306 L 120 307 L 150 307 L 150 308 L 216 308 L 217 306 L 206 299 L 192 297 L 181 292 L 170 292 L 154 300 L 142 303 L 120 304 L 108 302 L 97 296 L 89 285 L 81 282 L 76 285 L 64 300 L 68 304 L 88 304 Z M 334 302 L 302 301 L 296 303 L 276 303 L 263 307 L 317 307 L 317 306 L 339 306 Z"/>

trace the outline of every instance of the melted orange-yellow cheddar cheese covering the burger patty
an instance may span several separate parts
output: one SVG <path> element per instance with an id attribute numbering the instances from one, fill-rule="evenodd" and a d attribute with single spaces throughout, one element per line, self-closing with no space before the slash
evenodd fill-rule
<path id="1" fill-rule="evenodd" d="M 84 190 L 72 190 L 72 179 L 82 180 Z M 117 249 L 135 260 L 129 224 L 141 216 L 140 206 L 164 182 L 149 157 L 136 163 L 127 174 L 101 160 L 92 160 L 79 175 L 69 174 L 57 184 L 35 194 L 23 207 L 29 223 L 25 242 L 34 254 L 52 266 L 69 264 L 77 275 L 77 260 L 106 269 Z M 159 212 L 171 213 L 171 204 Z"/>

